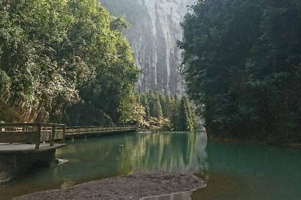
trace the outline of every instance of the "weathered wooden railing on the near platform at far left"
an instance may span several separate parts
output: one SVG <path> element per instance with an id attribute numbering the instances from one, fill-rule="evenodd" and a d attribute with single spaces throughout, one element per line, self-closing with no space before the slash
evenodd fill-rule
<path id="1" fill-rule="evenodd" d="M 63 143 L 65 131 L 66 125 L 57 123 L 0 123 L 0 143 L 35 143 L 39 149 L 43 141 Z"/>

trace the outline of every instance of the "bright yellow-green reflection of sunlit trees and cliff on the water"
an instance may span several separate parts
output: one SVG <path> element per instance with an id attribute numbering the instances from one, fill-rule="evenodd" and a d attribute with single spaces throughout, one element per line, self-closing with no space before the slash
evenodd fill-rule
<path id="1" fill-rule="evenodd" d="M 137 140 L 126 137 L 124 144 L 117 155 L 119 172 L 131 169 L 194 173 L 208 169 L 207 138 L 203 133 L 139 134 Z"/>

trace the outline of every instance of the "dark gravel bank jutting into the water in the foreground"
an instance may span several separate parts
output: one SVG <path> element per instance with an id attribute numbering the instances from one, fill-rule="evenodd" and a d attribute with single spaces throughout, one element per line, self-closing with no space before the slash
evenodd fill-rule
<path id="1" fill-rule="evenodd" d="M 178 172 L 137 172 L 106 178 L 72 187 L 48 190 L 15 197 L 13 200 L 139 200 L 150 196 L 192 191 L 206 186 L 197 176 Z"/>

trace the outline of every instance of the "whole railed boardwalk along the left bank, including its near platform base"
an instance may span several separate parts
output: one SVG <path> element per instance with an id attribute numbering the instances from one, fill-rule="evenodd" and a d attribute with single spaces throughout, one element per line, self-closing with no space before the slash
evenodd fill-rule
<path id="1" fill-rule="evenodd" d="M 0 182 L 22 176 L 34 165 L 50 166 L 65 138 L 135 131 L 136 126 L 66 127 L 57 123 L 0 123 Z"/>

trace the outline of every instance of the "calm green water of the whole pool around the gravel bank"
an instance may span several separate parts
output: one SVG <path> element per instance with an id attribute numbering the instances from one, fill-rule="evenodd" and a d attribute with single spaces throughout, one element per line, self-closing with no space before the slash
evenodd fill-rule
<path id="1" fill-rule="evenodd" d="M 301 199 L 297 149 L 207 141 L 203 133 L 131 133 L 67 141 L 57 157 L 69 161 L 0 185 L 0 199 L 141 170 L 186 171 L 207 182 L 152 199 Z"/>

